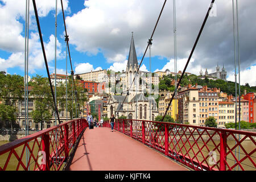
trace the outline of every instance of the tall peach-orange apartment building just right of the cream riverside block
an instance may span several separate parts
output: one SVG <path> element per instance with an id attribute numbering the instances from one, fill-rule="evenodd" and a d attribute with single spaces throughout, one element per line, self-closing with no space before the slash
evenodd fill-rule
<path id="1" fill-rule="evenodd" d="M 205 120 L 209 117 L 214 117 L 218 122 L 218 93 L 219 89 L 210 89 L 203 86 L 199 90 L 199 123 L 204 126 Z"/>

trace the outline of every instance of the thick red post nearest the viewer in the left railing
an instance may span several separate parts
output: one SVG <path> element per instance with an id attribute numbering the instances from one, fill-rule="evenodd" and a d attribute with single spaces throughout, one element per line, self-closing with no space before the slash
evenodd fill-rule
<path id="1" fill-rule="evenodd" d="M 42 136 L 42 150 L 45 154 L 45 159 L 43 159 L 43 171 L 49 171 L 49 164 L 50 164 L 50 155 L 49 155 L 49 134 L 44 134 Z"/>

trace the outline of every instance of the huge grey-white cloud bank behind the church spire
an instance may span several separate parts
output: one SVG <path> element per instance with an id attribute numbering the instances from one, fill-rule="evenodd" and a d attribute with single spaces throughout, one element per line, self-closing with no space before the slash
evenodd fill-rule
<path id="1" fill-rule="evenodd" d="M 76 46 L 77 51 L 89 55 L 101 52 L 109 63 L 123 63 L 129 53 L 127 45 L 133 31 L 137 55 L 140 56 L 146 48 L 163 2 L 164 0 L 85 1 L 84 9 L 67 17 L 71 43 Z M 176 2 L 178 60 L 188 59 L 209 3 L 210 1 L 205 0 Z M 256 64 L 256 23 L 251 19 L 256 16 L 253 8 L 255 6 L 254 0 L 240 1 L 238 4 L 242 71 Z M 217 63 L 224 63 L 228 73 L 234 69 L 232 2 L 216 1 L 214 10 L 214 16 L 210 16 L 205 24 L 187 72 L 198 75 L 201 67 L 214 72 Z M 167 1 L 153 37 L 152 56 L 172 60 L 173 37 L 172 2 Z M 183 61 L 178 61 L 179 63 Z M 166 64 L 165 67 L 171 67 L 171 63 Z M 178 69 L 183 71 L 183 68 Z"/>

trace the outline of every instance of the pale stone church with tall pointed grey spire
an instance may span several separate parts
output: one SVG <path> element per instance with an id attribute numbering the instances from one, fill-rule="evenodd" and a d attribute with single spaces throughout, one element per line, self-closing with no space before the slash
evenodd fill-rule
<path id="1" fill-rule="evenodd" d="M 108 118 L 112 114 L 115 118 L 121 115 L 128 119 L 143 119 L 154 121 L 158 116 L 158 107 L 153 97 L 145 97 L 143 86 L 139 84 L 139 65 L 131 36 L 130 52 L 126 65 L 126 77 L 122 83 L 121 95 L 110 95 L 108 101 Z"/>

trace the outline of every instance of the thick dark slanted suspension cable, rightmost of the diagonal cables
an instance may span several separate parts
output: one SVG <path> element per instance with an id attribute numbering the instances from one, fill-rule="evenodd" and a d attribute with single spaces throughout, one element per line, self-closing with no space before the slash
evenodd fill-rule
<path id="1" fill-rule="evenodd" d="M 193 52 L 195 51 L 197 42 L 199 41 L 199 38 L 200 38 L 200 36 L 201 36 L 201 33 L 202 33 L 203 29 L 204 29 L 205 23 L 207 22 L 207 19 L 208 19 L 210 10 L 212 10 L 212 6 L 213 6 L 214 1 L 215 1 L 215 0 L 212 0 L 212 2 L 210 3 L 209 9 L 208 9 L 208 11 L 207 11 L 207 15 L 205 16 L 204 22 L 203 22 L 203 24 L 202 24 L 202 26 L 201 26 L 201 28 L 200 28 L 199 34 L 197 35 L 196 42 L 195 42 L 195 44 L 194 44 L 194 46 L 193 46 L 193 48 L 192 48 L 192 51 L 191 51 L 191 53 L 190 53 L 190 55 L 189 55 L 189 57 L 188 57 L 188 61 L 187 61 L 186 65 L 185 65 L 185 68 L 184 68 L 184 70 L 183 70 L 183 72 L 182 72 L 182 74 L 181 74 L 181 76 L 180 76 L 179 82 L 177 83 L 177 88 L 179 88 L 180 82 L 181 82 L 181 80 L 182 80 L 182 78 L 183 78 L 183 75 L 184 75 L 184 73 L 185 73 L 185 71 L 186 71 L 186 69 L 187 69 L 187 67 L 188 67 L 188 63 L 189 63 L 189 61 L 191 60 L 191 57 L 192 57 L 192 55 L 193 55 Z M 169 102 L 169 104 L 168 104 L 168 107 L 167 107 L 167 109 L 166 109 L 166 112 L 165 112 L 164 115 L 163 115 L 162 122 L 163 122 L 163 120 L 164 120 L 164 117 L 166 117 L 166 113 L 167 113 L 169 107 L 171 106 L 172 100 L 174 100 L 174 96 L 175 96 L 175 94 L 172 94 L 172 98 L 171 98 L 171 100 L 170 100 L 170 102 Z"/>

